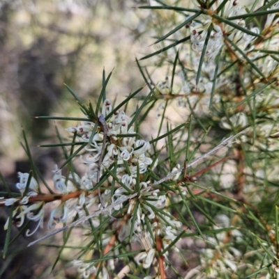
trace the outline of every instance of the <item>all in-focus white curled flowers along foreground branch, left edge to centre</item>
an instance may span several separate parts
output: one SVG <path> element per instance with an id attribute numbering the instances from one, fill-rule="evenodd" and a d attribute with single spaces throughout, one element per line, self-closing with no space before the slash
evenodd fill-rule
<path id="1" fill-rule="evenodd" d="M 160 237 L 162 247 L 167 248 L 175 239 L 181 223 L 174 218 L 158 216 L 156 210 L 165 211 L 167 198 L 165 194 L 160 193 L 159 189 L 152 189 L 149 180 L 141 181 L 141 177 L 149 166 L 153 164 L 153 168 L 155 168 L 158 161 L 153 162 L 148 155 L 150 143 L 137 139 L 131 118 L 124 111 L 112 113 L 110 99 L 105 99 L 102 113 L 104 118 L 112 114 L 105 121 L 106 127 L 102 123 L 86 121 L 83 125 L 66 129 L 77 134 L 77 143 L 88 143 L 84 147 L 83 154 L 80 155 L 80 162 L 86 166 L 86 172 L 82 176 L 72 172 L 64 176 L 62 170 L 55 166 L 53 170 L 54 189 L 59 192 L 61 202 L 52 209 L 48 228 L 54 228 L 58 223 L 71 223 L 74 218 L 82 218 L 88 212 L 96 212 L 103 207 L 115 204 L 112 209 L 102 215 L 109 218 L 112 216 L 111 214 L 117 216 L 114 233 L 119 232 L 117 237 L 123 241 L 128 239 L 130 232 L 133 232 L 133 243 L 138 239 L 138 235 L 147 236 L 148 248 L 141 241 L 145 251 L 139 252 L 136 258 L 137 264 L 148 269 L 151 265 L 156 264 L 154 257 L 160 253 L 159 250 L 156 250 L 155 239 Z M 112 179 L 104 180 L 100 196 L 98 196 L 95 187 L 99 182 L 98 177 L 104 177 L 109 170 L 114 173 L 114 176 Z M 18 204 L 13 212 L 15 218 L 20 218 L 18 227 L 24 223 L 25 216 L 31 221 L 38 222 L 32 233 L 27 231 L 27 236 L 29 236 L 39 227 L 43 228 L 45 196 L 42 196 L 42 201 L 32 204 L 29 197 L 40 195 L 38 182 L 28 173 L 19 173 L 19 177 L 20 182 L 17 183 L 17 188 L 22 196 L 3 199 L 0 203 L 6 206 Z M 113 183 L 114 189 L 112 189 Z M 27 185 L 29 191 L 26 190 Z M 139 194 L 135 198 L 130 198 L 128 204 L 124 204 L 126 197 L 132 193 Z M 90 223 L 99 226 L 99 216 L 91 218 Z M 147 229 L 148 225 L 151 226 L 151 231 Z M 89 228 L 89 223 L 84 223 L 84 226 Z M 8 228 L 8 221 L 5 228 Z M 111 237 L 110 234 L 103 234 L 103 246 L 109 245 Z M 94 251 L 98 247 L 94 244 L 91 248 Z M 164 254 L 165 258 L 168 253 L 167 251 Z M 90 274 L 97 272 L 100 278 L 108 278 L 109 270 L 114 268 L 113 261 L 108 261 L 102 271 L 98 271 L 98 264 L 86 263 L 82 260 L 75 260 L 73 265 L 78 266 L 81 278 L 88 278 Z"/>

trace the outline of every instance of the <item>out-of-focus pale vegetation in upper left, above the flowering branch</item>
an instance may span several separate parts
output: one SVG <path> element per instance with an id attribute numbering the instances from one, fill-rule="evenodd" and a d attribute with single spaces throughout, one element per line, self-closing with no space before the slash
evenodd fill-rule
<path id="1" fill-rule="evenodd" d="M 22 158 L 21 125 L 34 141 L 50 135 L 32 116 L 77 113 L 63 83 L 94 99 L 115 67 L 108 95 L 142 86 L 141 29 L 133 1 L 1 1 L 1 156 Z"/>

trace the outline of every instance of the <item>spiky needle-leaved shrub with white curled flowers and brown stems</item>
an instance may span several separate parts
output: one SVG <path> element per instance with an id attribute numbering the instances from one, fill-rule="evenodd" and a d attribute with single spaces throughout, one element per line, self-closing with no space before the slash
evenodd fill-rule
<path id="1" fill-rule="evenodd" d="M 12 205 L 3 257 L 12 218 L 40 225 L 60 200 L 49 228 L 63 229 L 47 236 L 63 230 L 54 266 L 82 230 L 72 263 L 83 278 L 277 278 L 279 2 L 156 2 L 135 12 L 158 48 L 135 61 L 146 91 L 117 105 L 103 70 L 96 105 L 66 86 L 80 118 L 40 117 L 77 121 L 71 140 L 57 130 L 60 143 L 42 145 L 65 155 L 50 193 L 36 186 L 23 134 L 31 171 L 20 197 L 6 189 L 0 200 Z"/>

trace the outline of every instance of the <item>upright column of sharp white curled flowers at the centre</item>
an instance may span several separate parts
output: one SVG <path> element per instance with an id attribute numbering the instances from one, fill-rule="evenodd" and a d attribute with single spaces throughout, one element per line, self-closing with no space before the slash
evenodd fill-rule
<path id="1" fill-rule="evenodd" d="M 112 106 L 109 99 L 105 99 L 103 104 L 102 113 L 104 117 L 112 113 Z M 147 156 L 150 148 L 148 141 L 136 139 L 133 125 L 130 125 L 130 118 L 124 113 L 124 111 L 115 111 L 110 118 L 107 118 L 107 142 L 103 142 L 105 127 L 97 129 L 97 133 L 92 135 L 96 123 L 85 122 L 84 125 L 78 127 L 70 127 L 67 131 L 77 132 L 80 137 L 80 141 L 89 142 L 92 138 L 91 143 L 84 148 L 86 154 L 83 154 L 80 159 L 82 163 L 86 164 L 88 171 L 84 173 L 81 177 L 80 188 L 86 189 L 86 191 L 91 191 L 93 186 L 98 182 L 98 160 L 101 160 L 100 164 L 100 175 L 104 175 L 107 168 L 110 168 L 115 164 L 115 175 L 118 178 L 119 183 L 115 184 L 115 190 L 112 193 L 111 182 L 103 185 L 105 191 L 101 194 L 101 199 L 98 200 L 99 208 L 102 208 L 102 204 L 107 207 L 108 205 L 114 206 L 114 211 L 108 212 L 108 214 L 114 214 L 114 212 L 119 212 L 123 210 L 130 216 L 125 223 L 122 221 L 116 225 L 119 230 L 119 239 L 127 239 L 130 231 L 134 232 L 134 236 L 137 234 L 145 234 L 146 231 L 146 218 L 148 218 L 148 223 L 151 224 L 153 237 L 149 235 L 149 248 L 145 252 L 140 253 L 137 256 L 137 263 L 142 265 L 144 269 L 147 269 L 153 263 L 153 258 L 156 255 L 156 248 L 154 247 L 153 241 L 151 239 L 156 239 L 156 235 L 162 237 L 163 247 L 167 247 L 170 239 L 176 237 L 175 228 L 179 228 L 181 223 L 177 221 L 172 221 L 169 218 L 166 225 L 164 221 L 159 216 L 156 216 L 153 208 L 163 209 L 166 203 L 165 195 L 158 195 L 160 191 L 158 189 L 144 191 L 151 185 L 150 181 L 138 182 L 138 175 L 143 175 L 146 173 L 147 168 L 153 163 L 152 159 Z M 105 144 L 105 146 L 104 146 Z M 105 148 L 105 156 L 100 158 L 103 148 Z M 156 163 L 156 162 L 155 162 Z M 153 164 L 153 168 L 156 164 Z M 63 181 L 63 177 L 61 180 Z M 65 187 L 63 187 L 65 188 Z M 123 208 L 124 200 L 129 193 L 134 193 L 135 191 L 142 192 L 140 196 L 130 199 L 126 209 Z M 94 196 L 97 198 L 97 195 Z M 89 197 L 86 197 L 89 198 Z M 135 220 L 133 220 L 135 218 Z M 98 223 L 98 218 L 95 220 Z M 172 223 L 174 222 L 174 223 Z M 75 262 L 76 264 L 77 262 Z M 84 270 L 84 262 L 78 262 L 80 265 L 80 273 L 86 278 L 87 273 L 96 272 L 96 268 L 91 265 Z"/>

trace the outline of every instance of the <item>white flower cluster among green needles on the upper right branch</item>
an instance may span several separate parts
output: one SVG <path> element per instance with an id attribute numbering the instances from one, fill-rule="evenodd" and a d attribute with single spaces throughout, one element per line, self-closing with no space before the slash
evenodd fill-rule
<path id="1" fill-rule="evenodd" d="M 275 13 L 267 15 L 265 24 L 260 29 L 259 26 L 251 26 L 250 22 L 245 20 L 248 10 L 240 1 L 226 1 L 222 17 L 216 13 L 220 4 L 223 3 L 213 3 L 210 10 L 201 13 L 192 22 L 186 24 L 186 29 L 190 34 L 190 46 L 185 44 L 180 50 L 180 56 L 183 56 L 181 58 L 183 70 L 178 73 L 182 83 L 180 89 L 171 92 L 167 80 L 160 81 L 155 86 L 160 95 L 172 95 L 172 99 L 176 99 L 177 106 L 184 108 L 190 106 L 190 109 L 200 116 L 209 113 L 209 104 L 212 104 L 215 110 L 220 111 L 220 102 L 227 102 L 227 98 L 231 100 L 230 98 L 239 94 L 237 92 L 239 87 L 236 86 L 239 82 L 237 72 L 225 71 L 237 61 L 243 65 L 253 65 L 249 72 L 252 71 L 257 77 L 269 80 L 278 77 L 279 39 L 277 35 L 273 35 L 278 30 L 278 19 L 274 19 Z M 274 3 L 268 10 L 272 11 L 277 8 L 278 3 Z M 241 15 L 244 18 L 241 18 Z M 227 20 L 230 17 L 239 18 Z M 177 31 L 177 33 L 184 35 L 182 31 Z M 209 40 L 206 42 L 208 35 Z M 205 42 L 206 45 L 204 45 Z M 206 51 L 201 62 L 204 48 Z M 176 55 L 175 52 L 169 51 L 169 56 L 171 56 L 169 60 L 173 60 L 174 55 Z M 200 66 L 202 67 L 199 69 Z M 199 81 L 197 82 L 198 72 Z M 220 75 L 221 72 L 223 72 L 222 75 Z M 265 84 L 263 81 L 257 82 L 256 88 L 263 86 Z M 255 90 L 248 71 L 244 70 L 241 82 L 242 87 L 246 88 L 243 90 L 246 90 L 248 94 L 251 90 Z M 164 107 L 165 101 L 158 106 L 157 117 L 162 114 L 160 110 Z"/>

